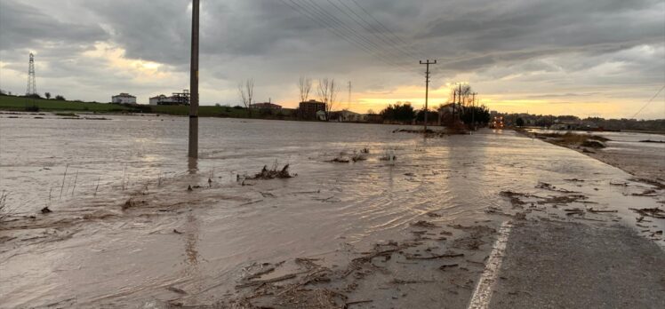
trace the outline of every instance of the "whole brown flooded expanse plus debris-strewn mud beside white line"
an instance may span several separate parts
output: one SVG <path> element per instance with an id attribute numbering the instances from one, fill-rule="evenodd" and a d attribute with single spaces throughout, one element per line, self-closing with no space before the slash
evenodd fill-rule
<path id="1" fill-rule="evenodd" d="M 187 118 L 109 117 L 0 119 L 0 307 L 466 308 L 507 221 L 665 245 L 662 190 L 513 131 L 202 119 L 190 162 Z"/>

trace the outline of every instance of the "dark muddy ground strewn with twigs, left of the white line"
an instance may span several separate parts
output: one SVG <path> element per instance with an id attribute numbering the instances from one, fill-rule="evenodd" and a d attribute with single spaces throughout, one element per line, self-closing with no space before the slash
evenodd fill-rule
<path id="1" fill-rule="evenodd" d="M 238 281 L 235 295 L 215 306 L 341 309 L 429 304 L 433 298 L 421 298 L 413 291 L 406 293 L 410 290 L 406 286 L 414 284 L 427 293 L 448 290 L 450 297 L 445 299 L 459 296 L 460 303 L 466 304 L 474 278 L 484 267 L 481 257 L 486 253 L 480 250 L 481 246 L 493 241 L 496 229 L 451 225 L 448 227 L 459 232 L 447 240 L 422 237 L 423 234 L 453 235 L 443 226 L 425 220 L 411 226 L 426 230 L 414 231 L 418 233 L 413 234 L 413 239 L 403 242 L 376 243 L 359 257 L 353 257 L 357 253 L 347 252 L 351 257 L 346 264 L 331 265 L 325 258 L 296 258 L 284 265 L 263 264 Z M 405 303 L 401 303 L 403 300 Z M 172 305 L 183 302 L 187 301 L 175 300 Z"/>

